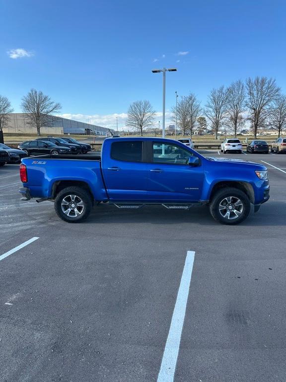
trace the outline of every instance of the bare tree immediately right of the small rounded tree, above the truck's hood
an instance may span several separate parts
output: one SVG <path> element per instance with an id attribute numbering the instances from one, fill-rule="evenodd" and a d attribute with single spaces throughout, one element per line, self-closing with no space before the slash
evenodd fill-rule
<path id="1" fill-rule="evenodd" d="M 214 128 L 215 139 L 217 139 L 218 129 L 227 115 L 227 102 L 228 91 L 224 86 L 211 90 L 211 94 L 208 96 L 205 114 L 210 119 L 211 125 Z"/>

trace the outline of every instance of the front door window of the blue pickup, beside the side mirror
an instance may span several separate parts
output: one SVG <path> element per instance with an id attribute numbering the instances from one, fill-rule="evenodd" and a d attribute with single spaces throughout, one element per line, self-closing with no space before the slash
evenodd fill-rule
<path id="1" fill-rule="evenodd" d="M 179 146 L 153 142 L 153 163 L 186 165 L 192 156 L 193 153 Z"/>

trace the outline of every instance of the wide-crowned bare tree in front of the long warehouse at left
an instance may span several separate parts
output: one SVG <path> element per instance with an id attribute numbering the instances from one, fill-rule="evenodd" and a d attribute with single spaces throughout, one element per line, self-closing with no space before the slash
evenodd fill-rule
<path id="1" fill-rule="evenodd" d="M 48 95 L 31 89 L 30 92 L 22 98 L 21 108 L 26 113 L 30 125 L 37 128 L 37 134 L 41 135 L 41 128 L 52 124 L 52 113 L 61 110 L 62 106 L 54 102 Z"/>

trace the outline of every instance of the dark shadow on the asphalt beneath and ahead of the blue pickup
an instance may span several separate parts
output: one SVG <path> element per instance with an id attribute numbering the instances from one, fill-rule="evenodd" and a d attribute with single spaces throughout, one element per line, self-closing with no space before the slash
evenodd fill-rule
<path id="1" fill-rule="evenodd" d="M 257 213 L 254 213 L 252 206 L 248 218 L 241 224 L 247 226 L 285 226 L 285 216 L 286 202 L 270 201 L 262 205 Z M 119 209 L 108 204 L 95 206 L 90 217 L 84 222 L 84 224 L 88 223 L 147 223 L 158 225 L 194 223 L 203 226 L 218 224 L 212 218 L 208 206 L 194 206 L 189 210 L 168 210 L 159 205 L 147 205 L 139 209 Z"/>

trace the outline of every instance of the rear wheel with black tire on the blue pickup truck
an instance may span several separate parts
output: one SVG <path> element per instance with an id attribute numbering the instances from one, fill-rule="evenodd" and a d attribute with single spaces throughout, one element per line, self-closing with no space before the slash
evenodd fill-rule
<path id="1" fill-rule="evenodd" d="M 74 198 L 75 203 L 74 202 L 72 203 L 72 198 L 69 197 L 70 195 L 75 196 Z M 70 203 L 70 199 L 71 199 L 71 203 Z M 67 206 L 67 204 L 63 204 L 62 206 L 63 201 L 65 202 L 68 201 L 71 205 L 69 204 Z M 80 203 L 80 206 L 79 206 L 79 203 Z M 76 208 L 71 207 L 74 204 Z M 81 209 L 81 206 L 83 207 L 82 209 Z M 66 211 L 70 209 L 69 211 L 69 213 L 71 213 L 70 216 L 64 212 L 65 208 L 67 208 Z M 73 211 L 74 209 L 76 209 L 79 215 L 76 216 L 76 212 Z M 64 190 L 60 191 L 55 198 L 55 210 L 58 216 L 61 219 L 67 221 L 68 223 L 79 223 L 82 220 L 86 219 L 88 215 L 90 214 L 91 209 L 92 209 L 92 197 L 88 191 L 82 189 L 81 187 L 76 187 L 76 186 L 67 187 Z"/>

